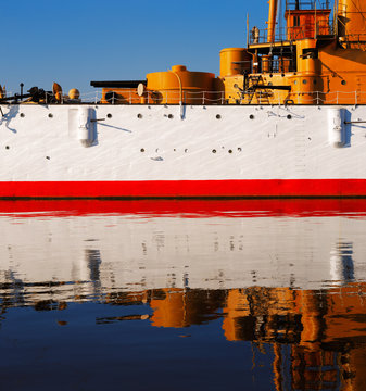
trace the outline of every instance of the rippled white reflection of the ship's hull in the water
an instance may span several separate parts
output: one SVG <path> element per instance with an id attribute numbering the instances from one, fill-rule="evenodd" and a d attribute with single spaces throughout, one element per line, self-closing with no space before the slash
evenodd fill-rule
<path id="1" fill-rule="evenodd" d="M 355 214 L 2 213 L 0 226 L 0 282 L 26 302 L 366 280 L 366 218 Z"/>

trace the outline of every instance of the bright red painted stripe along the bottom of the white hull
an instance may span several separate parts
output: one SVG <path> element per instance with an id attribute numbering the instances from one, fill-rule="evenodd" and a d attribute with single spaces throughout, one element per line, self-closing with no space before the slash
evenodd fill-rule
<path id="1" fill-rule="evenodd" d="M 0 198 L 366 197 L 366 179 L 7 181 Z"/>

